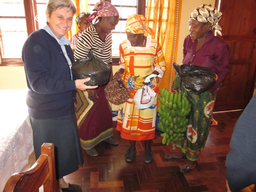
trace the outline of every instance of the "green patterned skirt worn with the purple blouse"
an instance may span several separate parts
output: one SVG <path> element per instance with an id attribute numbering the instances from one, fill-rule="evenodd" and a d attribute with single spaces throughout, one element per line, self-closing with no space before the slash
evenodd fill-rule
<path id="1" fill-rule="evenodd" d="M 206 91 L 193 94 L 182 86 L 182 92 L 187 95 L 192 106 L 185 139 L 176 146 L 181 148 L 189 160 L 196 161 L 209 134 L 217 90 L 213 93 Z"/>

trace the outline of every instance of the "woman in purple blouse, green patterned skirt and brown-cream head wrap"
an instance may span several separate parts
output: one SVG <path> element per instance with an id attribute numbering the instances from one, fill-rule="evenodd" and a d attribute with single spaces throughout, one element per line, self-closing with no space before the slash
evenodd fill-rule
<path id="1" fill-rule="evenodd" d="M 209 68 L 218 75 L 218 80 L 212 88 L 201 94 L 193 94 L 182 87 L 182 91 L 192 104 L 188 128 L 185 139 L 177 145 L 179 151 L 165 156 L 168 160 L 187 159 L 180 169 L 182 173 L 190 172 L 197 164 L 209 134 L 217 91 L 229 72 L 229 46 L 212 32 L 215 29 L 222 35 L 222 29 L 216 24 L 221 16 L 221 12 L 207 4 L 195 8 L 190 14 L 190 35 L 185 38 L 183 44 L 183 64 Z"/>

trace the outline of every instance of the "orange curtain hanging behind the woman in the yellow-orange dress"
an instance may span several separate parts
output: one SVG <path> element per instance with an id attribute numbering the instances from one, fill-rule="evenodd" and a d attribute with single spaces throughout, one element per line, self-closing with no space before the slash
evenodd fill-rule
<path id="1" fill-rule="evenodd" d="M 177 57 L 181 5 L 182 0 L 148 0 L 146 5 L 147 26 L 154 30 L 152 38 L 159 41 L 166 61 L 166 72 L 160 78 L 160 90 L 165 87 L 171 91 L 174 80 L 172 63 Z"/>

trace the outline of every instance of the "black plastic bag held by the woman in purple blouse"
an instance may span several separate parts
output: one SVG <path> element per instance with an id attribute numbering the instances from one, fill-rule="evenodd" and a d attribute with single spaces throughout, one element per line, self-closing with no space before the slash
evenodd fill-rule
<path id="1" fill-rule="evenodd" d="M 218 76 L 209 68 L 197 65 L 178 65 L 173 66 L 183 82 L 186 89 L 194 94 L 201 94 L 214 86 Z"/>

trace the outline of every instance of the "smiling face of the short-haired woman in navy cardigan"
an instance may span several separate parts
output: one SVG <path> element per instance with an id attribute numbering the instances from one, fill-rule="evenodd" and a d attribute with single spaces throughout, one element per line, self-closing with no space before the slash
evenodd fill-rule
<path id="1" fill-rule="evenodd" d="M 52 14 L 46 13 L 48 26 L 58 39 L 62 38 L 70 30 L 73 16 L 73 11 L 68 11 L 68 7 L 59 7 Z"/>

